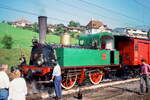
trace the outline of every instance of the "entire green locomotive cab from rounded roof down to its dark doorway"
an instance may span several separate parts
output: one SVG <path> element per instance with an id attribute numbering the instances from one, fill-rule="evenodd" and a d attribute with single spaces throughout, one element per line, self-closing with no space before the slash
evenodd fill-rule
<path id="1" fill-rule="evenodd" d="M 97 33 L 84 35 L 79 38 L 80 46 L 90 46 L 92 49 L 97 49 L 99 51 L 105 51 L 102 57 L 109 58 L 110 64 L 118 64 L 119 52 L 114 48 L 114 36 L 111 33 Z"/>

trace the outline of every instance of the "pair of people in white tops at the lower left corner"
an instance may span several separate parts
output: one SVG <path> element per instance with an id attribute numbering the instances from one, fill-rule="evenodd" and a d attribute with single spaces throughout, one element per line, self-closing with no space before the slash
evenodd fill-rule
<path id="1" fill-rule="evenodd" d="M 0 66 L 0 100 L 26 100 L 27 86 L 19 69 L 11 72 L 11 79 L 7 74 L 8 65 L 2 64 Z"/>

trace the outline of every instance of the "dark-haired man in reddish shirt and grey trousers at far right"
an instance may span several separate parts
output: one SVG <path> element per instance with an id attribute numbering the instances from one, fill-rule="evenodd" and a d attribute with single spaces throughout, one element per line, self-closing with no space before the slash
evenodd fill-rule
<path id="1" fill-rule="evenodd" d="M 140 68 L 140 94 L 150 92 L 150 82 L 149 82 L 149 73 L 150 73 L 150 65 L 146 63 L 145 59 L 141 60 L 141 68 Z"/>

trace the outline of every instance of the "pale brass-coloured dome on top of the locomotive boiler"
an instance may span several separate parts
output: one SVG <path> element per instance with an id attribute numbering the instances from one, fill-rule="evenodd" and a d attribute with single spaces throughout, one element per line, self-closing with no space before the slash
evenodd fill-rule
<path id="1" fill-rule="evenodd" d="M 60 43 L 61 43 L 62 45 L 65 45 L 65 46 L 70 45 L 70 35 L 69 35 L 68 33 L 64 33 L 64 34 L 61 36 Z"/>

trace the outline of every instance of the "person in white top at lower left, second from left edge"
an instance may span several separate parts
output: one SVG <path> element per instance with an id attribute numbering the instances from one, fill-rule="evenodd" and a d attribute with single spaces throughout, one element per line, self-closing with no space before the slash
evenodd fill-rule
<path id="1" fill-rule="evenodd" d="M 18 69 L 13 71 L 13 80 L 9 86 L 9 100 L 26 100 L 27 85 Z"/>

